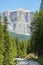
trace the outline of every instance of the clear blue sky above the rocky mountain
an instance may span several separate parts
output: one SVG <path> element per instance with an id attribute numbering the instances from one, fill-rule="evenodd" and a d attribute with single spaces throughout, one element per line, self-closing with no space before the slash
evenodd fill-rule
<path id="1" fill-rule="evenodd" d="M 39 10 L 41 0 L 0 0 L 0 12 L 24 8 L 31 11 Z"/>

